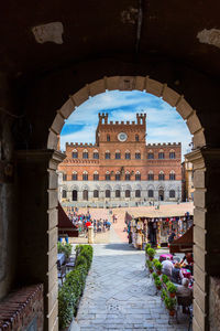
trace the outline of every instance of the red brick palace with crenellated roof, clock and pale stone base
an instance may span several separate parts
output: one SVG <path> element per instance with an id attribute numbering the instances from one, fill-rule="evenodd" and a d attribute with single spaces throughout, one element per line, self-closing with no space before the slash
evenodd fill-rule
<path id="1" fill-rule="evenodd" d="M 108 121 L 99 114 L 96 143 L 66 143 L 58 167 L 59 201 L 78 206 L 134 206 L 182 200 L 182 145 L 146 143 L 146 114 Z"/>

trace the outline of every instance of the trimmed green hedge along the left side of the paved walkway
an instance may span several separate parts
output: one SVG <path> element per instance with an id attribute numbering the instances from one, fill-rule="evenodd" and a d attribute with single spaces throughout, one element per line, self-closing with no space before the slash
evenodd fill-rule
<path id="1" fill-rule="evenodd" d="M 58 290 L 59 329 L 67 328 L 76 316 L 86 277 L 91 266 L 92 250 L 90 245 L 76 246 L 75 268 L 66 275 L 64 285 Z"/>

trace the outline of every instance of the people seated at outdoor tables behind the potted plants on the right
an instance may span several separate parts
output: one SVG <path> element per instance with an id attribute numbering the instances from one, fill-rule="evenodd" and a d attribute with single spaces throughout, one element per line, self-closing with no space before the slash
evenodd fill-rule
<path id="1" fill-rule="evenodd" d="M 190 270 L 190 278 L 183 275 L 182 266 Z M 173 263 L 169 257 L 162 261 L 162 274 L 166 275 L 176 286 L 177 296 L 193 298 L 193 265 L 194 257 L 191 253 L 187 253 L 180 263 Z"/>

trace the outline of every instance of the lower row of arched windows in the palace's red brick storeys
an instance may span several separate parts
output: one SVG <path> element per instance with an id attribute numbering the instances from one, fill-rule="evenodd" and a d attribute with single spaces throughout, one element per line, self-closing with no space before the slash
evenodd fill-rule
<path id="1" fill-rule="evenodd" d="M 127 171 L 123 178 L 125 181 L 130 181 L 132 175 L 133 175 L 133 171 L 131 173 L 129 171 Z M 176 180 L 176 174 L 174 171 L 170 171 L 168 179 L 169 179 L 169 181 Z M 67 174 L 63 173 L 63 181 L 66 181 L 66 180 L 67 180 Z M 79 180 L 78 173 L 76 171 L 72 174 L 72 180 L 73 181 Z M 81 180 L 82 181 L 89 180 L 89 175 L 88 175 L 87 171 L 84 171 Z M 99 173 L 97 171 L 94 172 L 92 180 L 99 181 Z M 122 180 L 122 174 L 120 171 L 117 171 L 116 173 L 113 173 L 113 171 L 111 171 L 111 172 L 107 171 L 105 174 L 105 180 L 106 181 L 111 181 L 111 180 L 120 181 L 120 180 Z M 161 171 L 156 178 L 156 175 L 154 175 L 153 172 L 148 172 L 147 180 L 148 181 L 154 181 L 154 180 L 164 181 L 165 174 L 163 171 Z M 135 173 L 135 181 L 141 181 L 141 173 L 139 171 Z"/>

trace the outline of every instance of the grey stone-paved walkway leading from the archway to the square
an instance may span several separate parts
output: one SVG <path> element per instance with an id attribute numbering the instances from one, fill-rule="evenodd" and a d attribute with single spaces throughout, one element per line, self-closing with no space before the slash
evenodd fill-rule
<path id="1" fill-rule="evenodd" d="M 144 252 L 121 243 L 94 245 L 95 256 L 76 321 L 80 331 L 188 330 L 168 324 L 168 312 L 144 268 Z M 184 316 L 185 323 L 187 318 Z"/>

